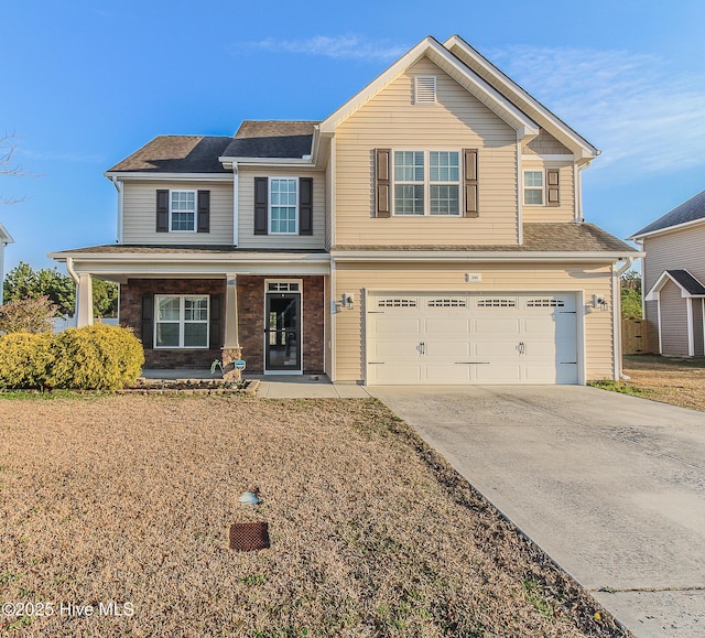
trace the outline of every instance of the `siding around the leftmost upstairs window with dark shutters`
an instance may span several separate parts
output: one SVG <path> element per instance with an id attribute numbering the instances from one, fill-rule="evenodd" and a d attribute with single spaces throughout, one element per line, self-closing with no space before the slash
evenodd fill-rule
<path id="1" fill-rule="evenodd" d="M 156 233 L 156 191 L 210 191 L 210 233 Z M 231 182 L 124 182 L 126 245 L 232 245 Z"/>

